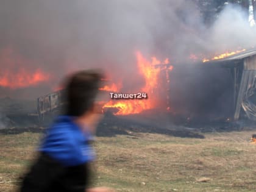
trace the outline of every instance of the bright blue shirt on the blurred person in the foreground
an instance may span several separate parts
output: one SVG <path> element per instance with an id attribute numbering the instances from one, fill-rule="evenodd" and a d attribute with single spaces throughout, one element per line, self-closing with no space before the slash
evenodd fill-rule
<path id="1" fill-rule="evenodd" d="M 77 126 L 71 116 L 59 116 L 49 128 L 39 151 L 58 160 L 63 166 L 76 166 L 94 160 L 89 141 L 92 136 Z"/>

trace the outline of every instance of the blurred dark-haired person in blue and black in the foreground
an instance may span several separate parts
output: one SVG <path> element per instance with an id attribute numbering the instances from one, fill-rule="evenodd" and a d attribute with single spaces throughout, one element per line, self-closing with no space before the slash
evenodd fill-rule
<path id="1" fill-rule="evenodd" d="M 39 157 L 24 177 L 21 192 L 110 192 L 88 188 L 94 151 L 90 145 L 101 113 L 95 99 L 103 75 L 80 71 L 66 82 L 65 115 L 49 127 L 39 148 Z"/>

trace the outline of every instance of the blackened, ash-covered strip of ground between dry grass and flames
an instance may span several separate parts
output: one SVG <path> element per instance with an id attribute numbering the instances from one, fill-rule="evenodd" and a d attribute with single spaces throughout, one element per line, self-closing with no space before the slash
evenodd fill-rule
<path id="1" fill-rule="evenodd" d="M 54 121 L 57 113 L 45 116 L 44 121 L 40 122 L 35 115 L 37 113 L 36 106 L 36 101 L 1 98 L 0 134 L 45 132 L 46 128 Z M 99 123 L 96 135 L 99 137 L 134 136 L 137 133 L 144 132 L 160 133 L 174 137 L 204 138 L 205 132 L 253 129 L 256 129 L 255 122 L 246 118 L 240 121 L 231 121 L 229 118 L 188 118 L 186 115 L 150 110 L 126 116 L 115 116 L 113 112 L 106 112 Z"/>

